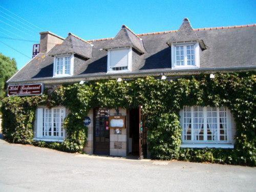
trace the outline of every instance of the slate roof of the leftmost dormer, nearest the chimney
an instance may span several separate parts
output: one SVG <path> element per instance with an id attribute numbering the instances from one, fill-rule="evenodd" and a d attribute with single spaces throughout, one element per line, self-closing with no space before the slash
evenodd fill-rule
<path id="1" fill-rule="evenodd" d="M 51 49 L 49 55 L 54 56 L 66 53 L 76 53 L 85 58 L 92 58 L 92 47 L 93 45 L 90 42 L 69 33 L 69 36 L 62 42 L 62 44 L 56 45 Z"/>

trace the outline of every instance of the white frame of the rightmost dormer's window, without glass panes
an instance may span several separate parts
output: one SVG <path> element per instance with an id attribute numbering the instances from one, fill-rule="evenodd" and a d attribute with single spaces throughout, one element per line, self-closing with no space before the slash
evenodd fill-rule
<path id="1" fill-rule="evenodd" d="M 187 54 L 186 54 L 186 46 L 194 45 L 195 50 L 195 65 L 187 65 Z M 184 46 L 184 66 L 178 66 L 176 65 L 176 47 L 177 46 Z M 173 43 L 171 46 L 171 55 L 172 55 L 172 69 L 173 70 L 179 70 L 179 69 L 197 69 L 200 68 L 200 46 L 199 42 L 197 41 L 191 41 L 191 42 L 177 42 Z"/>

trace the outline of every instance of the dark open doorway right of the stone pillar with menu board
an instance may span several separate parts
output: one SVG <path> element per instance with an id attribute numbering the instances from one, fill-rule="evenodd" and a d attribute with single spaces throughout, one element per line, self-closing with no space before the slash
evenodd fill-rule
<path id="1" fill-rule="evenodd" d="M 129 110 L 130 155 L 139 157 L 139 108 Z"/>

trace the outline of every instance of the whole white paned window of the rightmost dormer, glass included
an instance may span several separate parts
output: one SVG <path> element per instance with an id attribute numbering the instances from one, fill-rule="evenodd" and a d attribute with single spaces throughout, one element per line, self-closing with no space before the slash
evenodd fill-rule
<path id="1" fill-rule="evenodd" d="M 199 44 L 172 45 L 172 68 L 199 68 Z"/>

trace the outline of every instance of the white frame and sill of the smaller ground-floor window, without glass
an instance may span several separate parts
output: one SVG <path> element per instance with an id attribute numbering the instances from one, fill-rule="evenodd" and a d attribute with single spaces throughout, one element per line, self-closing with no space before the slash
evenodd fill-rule
<path id="1" fill-rule="evenodd" d="M 55 108 L 37 108 L 37 109 L 42 109 L 43 113 L 41 114 L 42 116 L 38 117 L 37 114 L 37 124 L 36 124 L 36 137 L 35 140 L 40 140 L 40 141 L 58 141 L 58 142 L 62 142 L 65 137 L 66 137 L 66 131 L 65 129 L 63 129 L 63 125 L 61 126 L 61 124 L 63 122 L 61 122 L 61 118 L 59 117 L 59 131 L 58 131 L 58 135 L 59 136 L 53 136 L 54 133 L 54 129 L 53 129 L 53 118 L 54 118 L 54 110 L 63 110 L 63 121 L 66 118 L 66 108 L 63 107 L 55 107 Z M 51 110 L 51 136 L 46 136 L 46 109 Z M 38 112 L 37 112 L 38 113 Z M 61 112 L 60 112 L 61 113 Z M 39 119 L 38 119 L 39 118 Z M 39 122 L 40 121 L 40 122 Z M 44 127 L 44 129 L 43 129 Z M 62 128 L 62 136 L 61 136 L 61 128 Z M 38 133 L 40 132 L 40 133 Z M 44 132 L 44 135 L 42 134 Z"/>

